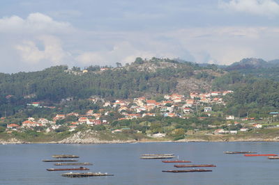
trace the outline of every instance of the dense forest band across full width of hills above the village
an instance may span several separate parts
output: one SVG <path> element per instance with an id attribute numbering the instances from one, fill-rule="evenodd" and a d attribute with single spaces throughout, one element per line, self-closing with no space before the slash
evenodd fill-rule
<path id="1" fill-rule="evenodd" d="M 254 61 L 253 61 L 254 60 Z M 234 63 L 230 67 L 197 65 L 168 58 L 136 58 L 134 63 L 117 67 L 89 66 L 68 69 L 50 67 L 38 72 L 0 74 L 0 115 L 13 115 L 30 102 L 52 106 L 61 99 L 85 99 L 93 95 L 106 99 L 127 99 L 145 95 L 176 93 L 179 81 L 206 83 L 211 90 L 234 90 L 228 95 L 227 113 L 245 114 L 248 111 L 276 110 L 279 107 L 279 67 L 276 61 L 269 67 L 255 58 Z M 191 85 L 191 84 L 190 84 Z M 190 86 L 189 85 L 189 86 Z M 199 88 L 197 91 L 204 91 Z M 183 95 L 190 89 L 184 87 Z"/>

